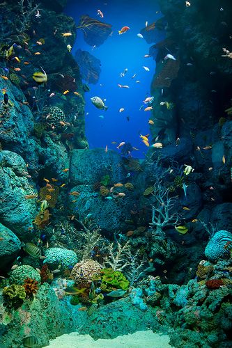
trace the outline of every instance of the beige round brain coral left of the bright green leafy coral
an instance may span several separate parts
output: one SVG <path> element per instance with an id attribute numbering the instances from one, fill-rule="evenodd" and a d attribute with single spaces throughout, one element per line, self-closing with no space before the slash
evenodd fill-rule
<path id="1" fill-rule="evenodd" d="M 100 274 L 101 269 L 102 266 L 97 261 L 84 260 L 75 264 L 71 272 L 71 278 L 75 280 L 77 286 L 84 283 L 91 284 L 93 276 Z"/>

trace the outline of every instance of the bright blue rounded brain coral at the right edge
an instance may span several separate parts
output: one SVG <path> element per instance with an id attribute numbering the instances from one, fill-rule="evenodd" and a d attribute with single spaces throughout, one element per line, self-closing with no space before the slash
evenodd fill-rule
<path id="1" fill-rule="evenodd" d="M 232 233 L 221 230 L 215 233 L 208 242 L 205 250 L 206 258 L 217 261 L 220 258 L 229 258 L 232 246 Z"/>

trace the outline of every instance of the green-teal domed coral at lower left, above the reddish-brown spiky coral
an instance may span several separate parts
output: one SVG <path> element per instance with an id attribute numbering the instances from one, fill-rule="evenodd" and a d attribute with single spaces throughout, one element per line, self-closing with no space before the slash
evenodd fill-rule
<path id="1" fill-rule="evenodd" d="M 10 284 L 24 285 L 24 279 L 26 278 L 34 279 L 38 281 L 39 284 L 41 281 L 38 271 L 28 264 L 24 264 L 14 269 L 10 274 L 9 280 Z"/>

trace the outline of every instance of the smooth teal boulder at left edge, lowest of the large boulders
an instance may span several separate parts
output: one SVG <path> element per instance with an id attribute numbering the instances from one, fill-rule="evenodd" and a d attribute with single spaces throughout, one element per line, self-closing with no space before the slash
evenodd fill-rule
<path id="1" fill-rule="evenodd" d="M 20 239 L 0 223 L 0 269 L 3 270 L 20 251 Z"/>

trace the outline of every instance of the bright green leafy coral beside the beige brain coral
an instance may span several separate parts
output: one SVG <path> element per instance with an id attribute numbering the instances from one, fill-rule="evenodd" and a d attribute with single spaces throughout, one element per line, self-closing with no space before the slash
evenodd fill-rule
<path id="1" fill-rule="evenodd" d="M 115 289 L 127 290 L 130 283 L 121 271 L 114 271 L 111 268 L 105 268 L 101 271 L 102 283 L 100 288 L 104 292 L 111 292 Z"/>

